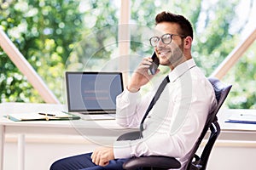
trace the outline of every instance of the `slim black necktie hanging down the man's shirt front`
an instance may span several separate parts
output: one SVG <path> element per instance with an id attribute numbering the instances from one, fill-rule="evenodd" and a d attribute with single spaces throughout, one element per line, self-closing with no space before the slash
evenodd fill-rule
<path id="1" fill-rule="evenodd" d="M 151 111 L 151 109 L 153 108 L 154 104 L 156 103 L 156 101 L 160 98 L 160 94 L 162 94 L 162 92 L 164 91 L 164 89 L 166 88 L 166 84 L 170 82 L 169 77 L 167 76 L 163 82 L 161 82 L 160 87 L 157 89 L 156 93 L 154 94 L 154 98 L 151 100 L 149 106 L 148 106 L 148 110 L 146 111 L 145 115 L 143 116 L 143 120 L 140 124 L 140 133 L 141 133 L 141 138 L 143 138 L 143 122 L 145 121 L 146 117 L 148 116 L 149 111 Z"/>

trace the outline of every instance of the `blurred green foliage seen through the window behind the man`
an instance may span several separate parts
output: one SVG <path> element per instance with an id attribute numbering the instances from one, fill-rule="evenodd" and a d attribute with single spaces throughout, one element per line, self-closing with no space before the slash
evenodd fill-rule
<path id="1" fill-rule="evenodd" d="M 83 70 L 84 63 L 93 68 L 111 59 L 117 43 L 108 42 L 118 41 L 119 3 L 119 0 L 0 0 L 0 26 L 61 101 L 67 66 Z M 238 3 L 218 0 L 212 7 L 211 3 L 200 0 L 131 0 L 131 23 L 154 28 L 154 16 L 162 10 L 184 14 L 195 29 L 192 55 L 210 76 L 238 44 L 242 28 L 230 31 Z M 131 52 L 150 54 L 150 49 L 143 46 L 143 42 L 131 42 Z M 233 84 L 226 102 L 230 108 L 256 108 L 253 46 L 224 77 L 224 82 Z M 84 54 L 94 58 L 89 62 Z M 0 71 L 0 102 L 44 102 L 2 48 Z"/>

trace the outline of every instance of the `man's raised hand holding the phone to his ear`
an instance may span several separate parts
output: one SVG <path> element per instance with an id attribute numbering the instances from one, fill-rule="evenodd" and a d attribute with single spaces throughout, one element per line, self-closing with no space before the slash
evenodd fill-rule
<path id="1" fill-rule="evenodd" d="M 148 68 L 152 65 L 152 59 L 150 57 L 144 58 L 143 61 L 138 65 L 137 70 L 133 72 L 131 76 L 131 82 L 127 86 L 130 92 L 137 92 L 143 85 L 147 84 L 149 80 L 154 77 L 153 75 L 148 75 Z M 160 70 L 158 69 L 156 73 Z"/>

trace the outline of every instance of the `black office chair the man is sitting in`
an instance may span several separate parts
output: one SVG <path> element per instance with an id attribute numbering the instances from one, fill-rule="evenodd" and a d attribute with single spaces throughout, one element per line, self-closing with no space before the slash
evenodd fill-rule
<path id="1" fill-rule="evenodd" d="M 220 82 L 217 78 L 209 77 L 209 82 L 212 83 L 212 87 L 215 91 L 215 97 L 218 101 L 218 105 L 215 110 L 209 113 L 207 116 L 207 122 L 205 127 L 203 128 L 199 139 L 195 143 L 195 146 L 189 156 L 188 164 L 186 165 L 186 170 L 205 170 L 207 168 L 207 161 L 210 156 L 213 144 L 218 138 L 218 134 L 220 133 L 220 127 L 218 125 L 217 113 L 224 103 L 227 95 L 230 93 L 230 88 L 232 85 L 224 85 L 224 83 Z M 208 129 L 210 129 L 210 136 L 207 140 L 207 144 L 205 145 L 201 156 L 197 156 L 195 153 L 198 150 L 202 139 L 204 139 Z M 140 132 L 131 132 L 125 133 L 117 140 L 134 140 L 139 139 Z M 131 158 L 131 160 L 126 161 L 123 164 L 123 168 L 127 170 L 135 170 L 139 167 L 143 167 L 143 169 L 154 169 L 154 170 L 164 170 L 164 169 L 175 169 L 181 167 L 181 164 L 174 157 L 169 156 L 141 156 Z"/>

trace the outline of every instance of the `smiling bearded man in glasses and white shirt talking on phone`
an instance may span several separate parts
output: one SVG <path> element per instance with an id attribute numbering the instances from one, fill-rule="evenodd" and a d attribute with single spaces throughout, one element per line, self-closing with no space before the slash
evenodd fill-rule
<path id="1" fill-rule="evenodd" d="M 170 67 L 167 83 L 143 122 L 143 138 L 116 141 L 113 147 L 96 149 L 92 154 L 56 161 L 51 170 L 122 169 L 132 156 L 174 156 L 184 169 L 188 156 L 216 105 L 210 82 L 191 56 L 193 29 L 182 15 L 162 12 L 155 18 L 155 36 L 150 38 L 160 65 Z M 117 122 L 137 127 L 153 94 L 140 99 L 139 91 L 154 75 L 148 74 L 151 58 L 145 58 L 131 76 L 131 82 L 117 98 Z M 157 70 L 158 73 L 160 70 Z"/>

